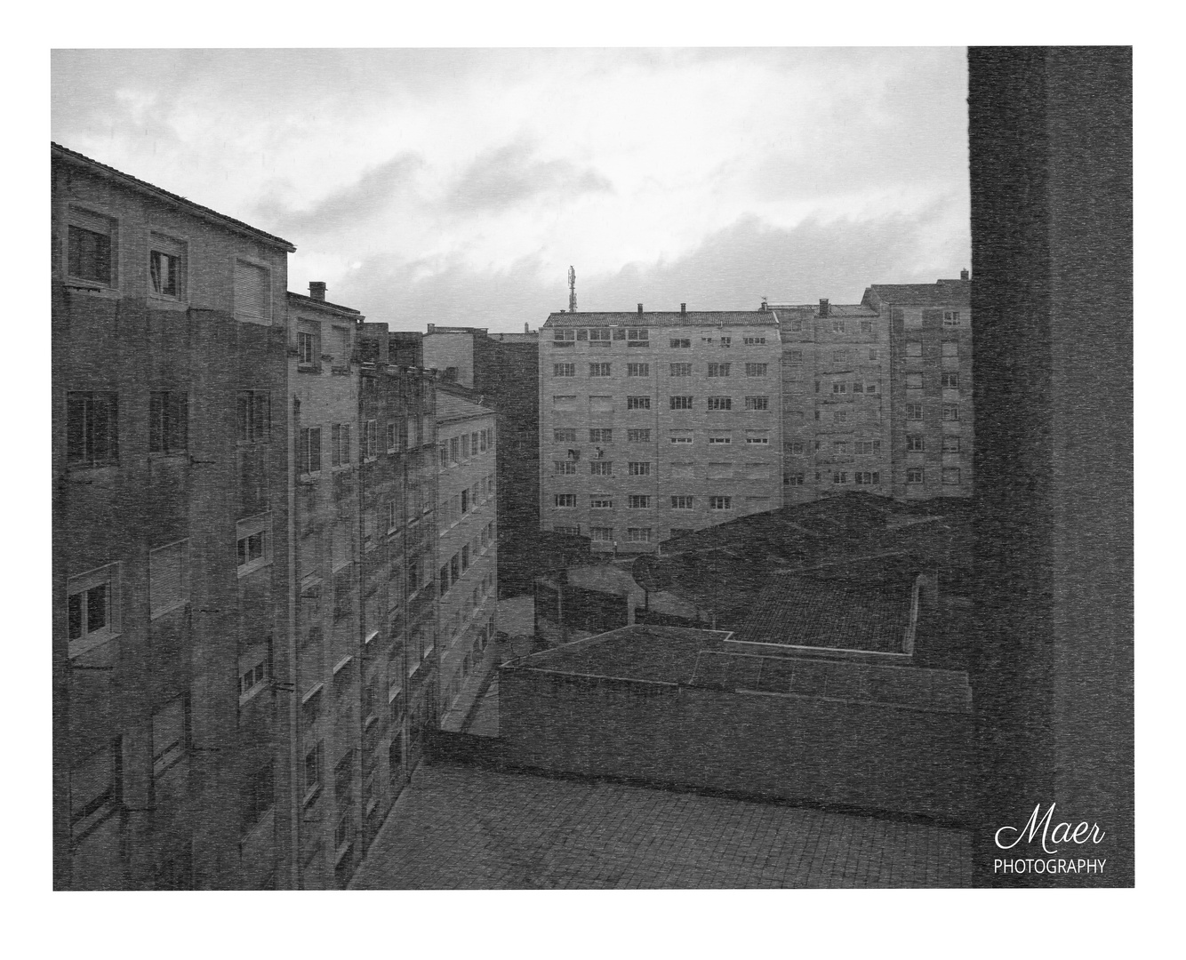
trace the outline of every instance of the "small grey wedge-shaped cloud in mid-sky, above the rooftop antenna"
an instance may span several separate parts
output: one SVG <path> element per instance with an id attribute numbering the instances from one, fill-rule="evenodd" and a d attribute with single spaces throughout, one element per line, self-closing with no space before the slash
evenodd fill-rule
<path id="1" fill-rule="evenodd" d="M 613 185 L 592 167 L 568 160 L 538 160 L 518 141 L 482 154 L 460 177 L 446 205 L 454 211 L 505 210 L 543 194 L 610 192 Z"/>

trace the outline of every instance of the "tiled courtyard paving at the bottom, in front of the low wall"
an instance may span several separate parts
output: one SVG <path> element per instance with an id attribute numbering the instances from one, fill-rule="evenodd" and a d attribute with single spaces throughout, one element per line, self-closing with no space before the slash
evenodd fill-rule
<path id="1" fill-rule="evenodd" d="M 967 887 L 967 833 L 774 804 L 421 764 L 361 890 Z"/>

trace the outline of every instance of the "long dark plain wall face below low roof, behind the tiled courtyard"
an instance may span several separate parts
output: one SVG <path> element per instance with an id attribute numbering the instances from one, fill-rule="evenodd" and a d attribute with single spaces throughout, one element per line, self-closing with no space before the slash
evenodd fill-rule
<path id="1" fill-rule="evenodd" d="M 505 666 L 510 766 L 967 823 L 973 717 Z"/>

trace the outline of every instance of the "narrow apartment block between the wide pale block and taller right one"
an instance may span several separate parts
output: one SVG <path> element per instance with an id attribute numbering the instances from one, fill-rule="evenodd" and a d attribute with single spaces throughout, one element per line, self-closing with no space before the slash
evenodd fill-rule
<path id="1" fill-rule="evenodd" d="M 865 303 L 769 309 L 783 346 L 783 504 L 888 493 L 888 325 Z"/>

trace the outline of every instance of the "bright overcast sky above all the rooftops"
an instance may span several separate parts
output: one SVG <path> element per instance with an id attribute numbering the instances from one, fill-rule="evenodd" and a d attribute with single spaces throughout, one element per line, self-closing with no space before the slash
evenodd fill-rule
<path id="1" fill-rule="evenodd" d="M 57 51 L 52 137 L 395 328 L 856 302 L 969 265 L 962 49 Z"/>

